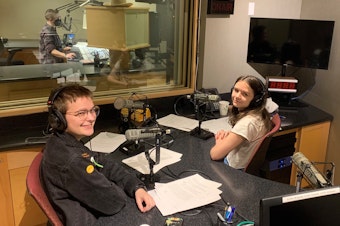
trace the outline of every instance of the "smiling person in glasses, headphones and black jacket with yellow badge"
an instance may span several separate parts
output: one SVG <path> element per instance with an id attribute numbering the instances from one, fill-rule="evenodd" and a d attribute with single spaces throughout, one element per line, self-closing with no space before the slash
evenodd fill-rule
<path id="1" fill-rule="evenodd" d="M 90 90 L 80 85 L 57 88 L 48 108 L 53 133 L 43 151 L 42 183 L 64 225 L 94 225 L 101 216 L 123 209 L 127 196 L 135 198 L 141 212 L 155 206 L 136 175 L 83 144 L 81 139 L 94 133 L 99 115 Z"/>

